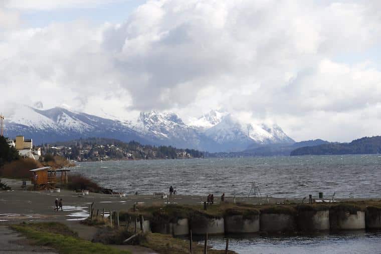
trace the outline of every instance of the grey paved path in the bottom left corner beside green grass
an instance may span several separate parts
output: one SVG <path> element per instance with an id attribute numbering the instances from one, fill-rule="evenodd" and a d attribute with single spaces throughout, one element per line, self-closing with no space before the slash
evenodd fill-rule
<path id="1" fill-rule="evenodd" d="M 54 250 L 47 247 L 34 246 L 28 244 L 28 240 L 18 232 L 8 226 L 0 226 L 0 253 L 21 253 L 21 254 L 55 254 Z"/>

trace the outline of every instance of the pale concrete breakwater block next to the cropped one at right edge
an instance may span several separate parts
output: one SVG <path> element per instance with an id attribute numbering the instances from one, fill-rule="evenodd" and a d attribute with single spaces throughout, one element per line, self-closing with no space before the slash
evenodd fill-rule
<path id="1" fill-rule="evenodd" d="M 365 229 L 365 212 L 354 207 L 331 208 L 329 210 L 331 230 Z"/>

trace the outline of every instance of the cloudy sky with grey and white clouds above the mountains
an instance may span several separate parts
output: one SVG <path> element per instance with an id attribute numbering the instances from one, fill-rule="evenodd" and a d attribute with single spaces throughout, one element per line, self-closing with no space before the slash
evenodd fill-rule
<path id="1" fill-rule="evenodd" d="M 223 108 L 295 140 L 381 134 L 379 1 L 0 0 L 0 107 Z"/>

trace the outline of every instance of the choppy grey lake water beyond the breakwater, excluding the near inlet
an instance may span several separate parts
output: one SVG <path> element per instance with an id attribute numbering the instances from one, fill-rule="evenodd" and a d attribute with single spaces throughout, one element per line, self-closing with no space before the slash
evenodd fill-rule
<path id="1" fill-rule="evenodd" d="M 102 186 L 126 193 L 245 196 L 251 182 L 262 195 L 304 197 L 324 192 L 336 197 L 381 197 L 381 155 L 279 156 L 83 162 L 72 170 Z"/>

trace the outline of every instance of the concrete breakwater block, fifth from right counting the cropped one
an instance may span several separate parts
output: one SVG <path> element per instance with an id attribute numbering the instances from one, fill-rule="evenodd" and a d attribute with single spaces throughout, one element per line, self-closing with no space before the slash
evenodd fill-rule
<path id="1" fill-rule="evenodd" d="M 226 233 L 259 232 L 259 215 L 244 217 L 243 215 L 227 215 L 225 217 Z"/>

